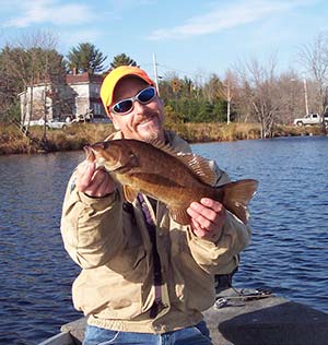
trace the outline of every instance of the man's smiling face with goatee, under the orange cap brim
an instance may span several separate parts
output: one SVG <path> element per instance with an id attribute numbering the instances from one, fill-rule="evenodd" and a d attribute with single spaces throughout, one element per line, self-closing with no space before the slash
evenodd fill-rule
<path id="1" fill-rule="evenodd" d="M 149 84 L 142 79 L 136 76 L 121 79 L 115 87 L 110 107 L 122 99 L 136 96 L 148 86 Z M 148 104 L 134 100 L 132 110 L 128 114 L 118 115 L 112 111 L 110 119 L 115 128 L 120 129 L 126 139 L 164 141 L 164 106 L 157 96 Z"/>

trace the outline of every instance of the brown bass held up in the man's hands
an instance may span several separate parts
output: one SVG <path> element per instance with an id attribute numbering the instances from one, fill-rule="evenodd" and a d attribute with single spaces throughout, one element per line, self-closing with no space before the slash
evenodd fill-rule
<path id="1" fill-rule="evenodd" d="M 247 206 L 258 181 L 242 179 L 215 187 L 216 174 L 209 160 L 194 153 L 181 153 L 157 140 L 119 139 L 84 147 L 86 159 L 95 160 L 122 186 L 125 199 L 133 202 L 138 193 L 163 202 L 172 218 L 181 225 L 191 223 L 187 209 L 202 198 L 219 201 L 248 223 Z"/>

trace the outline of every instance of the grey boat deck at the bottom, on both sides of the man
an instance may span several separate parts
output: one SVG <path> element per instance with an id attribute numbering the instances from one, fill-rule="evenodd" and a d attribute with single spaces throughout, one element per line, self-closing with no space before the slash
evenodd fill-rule
<path id="1" fill-rule="evenodd" d="M 214 345 L 328 344 L 328 314 L 323 311 L 271 295 L 241 296 L 235 289 L 219 297 L 204 312 Z M 39 345 L 79 345 L 85 324 L 86 318 L 65 324 L 57 338 Z"/>

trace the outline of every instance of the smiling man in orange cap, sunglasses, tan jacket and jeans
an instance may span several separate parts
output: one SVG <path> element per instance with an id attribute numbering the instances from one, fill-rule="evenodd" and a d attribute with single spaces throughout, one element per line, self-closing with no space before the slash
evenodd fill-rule
<path id="1" fill-rule="evenodd" d="M 117 130 L 107 140 L 156 139 L 190 152 L 164 130 L 163 103 L 141 69 L 113 70 L 101 97 Z M 227 176 L 213 168 L 218 185 L 226 183 Z M 82 267 L 73 302 L 89 316 L 85 345 L 211 344 L 201 312 L 214 302 L 214 275 L 238 265 L 250 229 L 208 198 L 192 202 L 187 212 L 190 226 L 179 225 L 156 200 L 139 194 L 132 204 L 126 202 L 121 186 L 94 162 L 77 168 L 61 231 Z"/>

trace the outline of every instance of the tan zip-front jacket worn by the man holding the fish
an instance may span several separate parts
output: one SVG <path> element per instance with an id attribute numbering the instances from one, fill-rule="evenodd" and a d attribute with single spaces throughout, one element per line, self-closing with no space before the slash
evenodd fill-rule
<path id="1" fill-rule="evenodd" d="M 190 152 L 185 141 L 173 133 L 167 135 L 177 151 Z M 115 134 L 118 138 L 120 133 Z M 218 185 L 227 182 L 227 176 L 215 169 Z M 151 209 L 149 199 L 144 200 Z M 72 175 L 61 233 L 65 248 L 82 267 L 73 283 L 73 302 L 90 316 L 90 324 L 147 333 L 197 324 L 202 320 L 201 311 L 214 302 L 214 274 L 226 274 L 237 266 L 237 254 L 250 237 L 250 229 L 230 213 L 222 236 L 211 240 L 175 223 L 162 203 L 157 203 L 152 217 L 163 277 L 163 307 L 153 319 L 152 245 L 140 203 L 136 200 L 128 207 L 119 188 L 106 198 L 89 198 L 77 191 Z"/>

